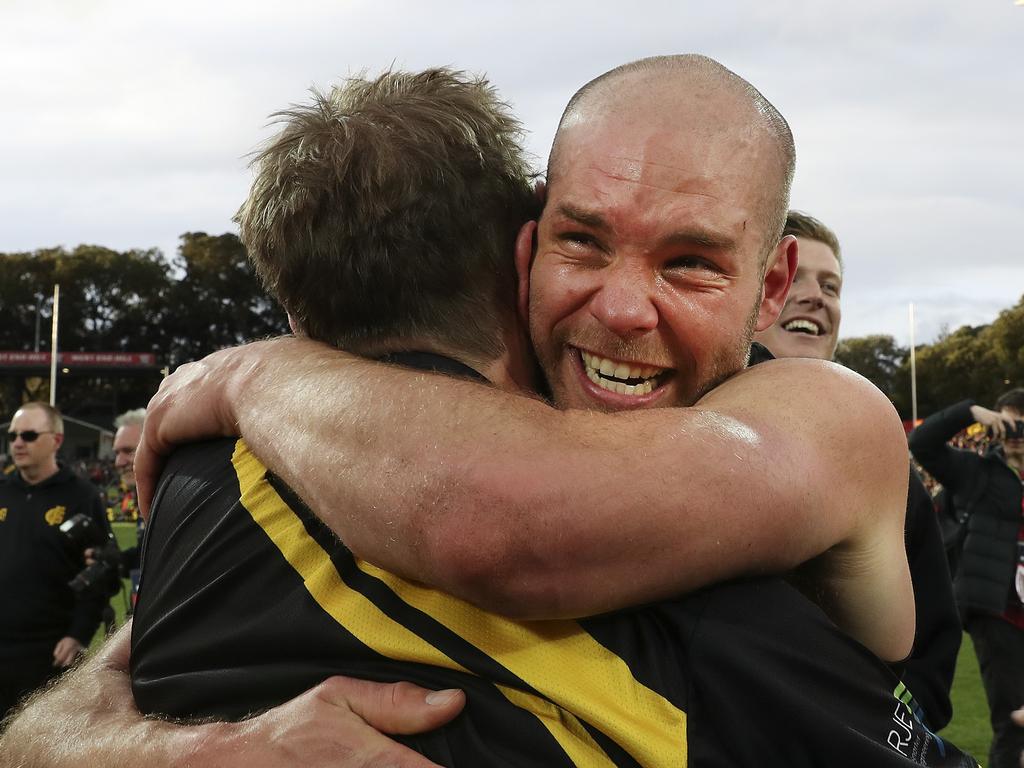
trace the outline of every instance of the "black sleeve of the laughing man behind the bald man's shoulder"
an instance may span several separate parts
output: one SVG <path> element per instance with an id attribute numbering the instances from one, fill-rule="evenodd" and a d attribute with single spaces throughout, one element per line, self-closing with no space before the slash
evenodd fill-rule
<path id="1" fill-rule="evenodd" d="M 928 726 L 941 730 L 952 717 L 949 689 L 963 630 L 935 507 L 912 468 L 906 500 L 906 555 L 918 629 L 901 678 L 924 710 Z"/>

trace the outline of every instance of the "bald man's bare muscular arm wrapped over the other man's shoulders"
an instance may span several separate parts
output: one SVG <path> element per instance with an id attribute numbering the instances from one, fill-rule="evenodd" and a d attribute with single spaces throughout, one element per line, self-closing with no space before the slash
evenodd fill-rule
<path id="1" fill-rule="evenodd" d="M 143 489 L 153 452 L 241 432 L 358 556 L 499 612 L 586 615 L 828 552 L 819 602 L 883 657 L 909 650 L 902 427 L 830 364 L 607 415 L 281 339 L 187 367 L 148 414 Z"/>

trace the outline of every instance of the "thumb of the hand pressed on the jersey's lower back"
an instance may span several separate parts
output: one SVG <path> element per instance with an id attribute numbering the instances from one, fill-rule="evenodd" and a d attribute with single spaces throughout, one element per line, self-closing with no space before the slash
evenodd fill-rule
<path id="1" fill-rule="evenodd" d="M 385 733 L 433 730 L 462 712 L 466 705 L 466 694 L 461 690 L 432 691 L 412 683 L 374 683 L 332 677 L 322 686 L 322 695 L 329 701 L 348 707 Z"/>

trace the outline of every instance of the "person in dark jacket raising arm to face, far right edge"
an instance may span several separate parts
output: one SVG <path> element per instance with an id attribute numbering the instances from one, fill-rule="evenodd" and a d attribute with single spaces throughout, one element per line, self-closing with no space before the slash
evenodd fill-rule
<path id="1" fill-rule="evenodd" d="M 947 444 L 973 422 L 992 438 L 984 455 Z M 992 411 L 964 400 L 933 414 L 910 433 L 910 451 L 964 511 L 953 592 L 988 697 L 988 764 L 1018 768 L 1024 732 L 1011 713 L 1024 700 L 1024 389 L 1002 394 Z"/>

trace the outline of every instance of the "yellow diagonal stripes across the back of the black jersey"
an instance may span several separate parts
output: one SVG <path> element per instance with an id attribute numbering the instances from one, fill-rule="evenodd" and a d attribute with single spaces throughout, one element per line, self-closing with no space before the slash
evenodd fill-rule
<path id="1" fill-rule="evenodd" d="M 382 655 L 469 672 L 345 584 L 330 555 L 267 482 L 265 467 L 243 440 L 236 444 L 231 462 L 243 506 L 303 578 L 313 599 L 335 621 Z M 512 622 L 369 563 L 356 562 L 407 603 L 443 624 L 550 698 L 497 686 L 513 705 L 537 716 L 575 765 L 611 768 L 613 763 L 573 713 L 641 765 L 686 765 L 685 713 L 637 682 L 625 662 L 596 642 L 578 623 Z"/>

